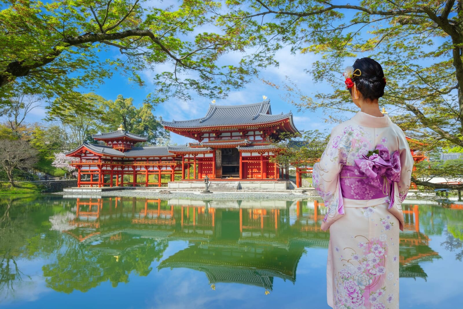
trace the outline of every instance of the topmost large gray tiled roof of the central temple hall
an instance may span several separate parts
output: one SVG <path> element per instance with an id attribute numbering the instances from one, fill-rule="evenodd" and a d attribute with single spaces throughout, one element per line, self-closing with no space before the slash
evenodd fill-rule
<path id="1" fill-rule="evenodd" d="M 206 116 L 194 120 L 162 121 L 163 126 L 174 128 L 193 128 L 204 126 L 233 126 L 241 124 L 260 124 L 292 117 L 292 113 L 272 115 L 270 100 L 247 105 L 210 104 Z"/>

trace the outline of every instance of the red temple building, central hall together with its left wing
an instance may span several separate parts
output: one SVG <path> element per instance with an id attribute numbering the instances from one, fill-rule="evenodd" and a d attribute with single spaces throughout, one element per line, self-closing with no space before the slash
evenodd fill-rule
<path id="1" fill-rule="evenodd" d="M 203 118 L 163 121 L 162 125 L 197 142 L 138 147 L 136 144 L 147 138 L 122 126 L 117 131 L 95 134 L 93 138 L 106 145 L 84 142 L 67 153 L 76 158 L 71 165 L 78 170 L 77 186 L 161 187 L 163 175 L 170 182 L 175 175 L 181 180 L 208 177 L 276 181 L 288 177 L 288 173 L 271 162 L 279 151 L 272 140 L 278 140 L 283 132 L 299 132 L 293 114 L 272 114 L 269 100 L 235 106 L 211 104 Z"/>

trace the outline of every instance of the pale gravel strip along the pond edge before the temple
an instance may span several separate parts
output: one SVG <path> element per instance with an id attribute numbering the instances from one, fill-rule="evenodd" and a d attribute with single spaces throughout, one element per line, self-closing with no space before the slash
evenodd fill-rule
<path id="1" fill-rule="evenodd" d="M 171 192 L 162 194 L 158 191 L 144 190 L 118 190 L 107 192 L 56 192 L 58 195 L 89 195 L 89 196 L 127 196 L 127 197 L 156 197 L 161 199 L 191 199 L 191 200 L 300 200 L 313 199 L 316 196 L 312 194 L 300 193 L 272 193 L 272 192 L 218 192 L 212 194 L 200 194 L 198 192 Z"/>

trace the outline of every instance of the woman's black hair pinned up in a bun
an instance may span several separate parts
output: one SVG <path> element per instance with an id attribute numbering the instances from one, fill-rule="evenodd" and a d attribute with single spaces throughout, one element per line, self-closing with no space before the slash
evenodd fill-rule
<path id="1" fill-rule="evenodd" d="M 381 98 L 384 95 L 384 86 L 386 86 L 381 64 L 365 57 L 357 59 L 353 67 L 354 70 L 359 69 L 362 73 L 360 76 L 353 76 L 352 82 L 355 82 L 363 98 L 370 101 Z M 350 93 L 352 93 L 351 89 L 349 89 Z"/>

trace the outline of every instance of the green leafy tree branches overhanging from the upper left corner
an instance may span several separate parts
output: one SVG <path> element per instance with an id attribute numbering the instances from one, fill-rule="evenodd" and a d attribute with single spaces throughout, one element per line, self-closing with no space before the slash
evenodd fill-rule
<path id="1" fill-rule="evenodd" d="M 164 7 L 161 1 L 152 7 L 143 0 L 2 0 L 1 6 L 0 98 L 18 89 L 62 98 L 51 101 L 51 116 L 63 116 L 65 106 L 90 112 L 80 104 L 78 89 L 98 85 L 114 69 L 140 85 L 140 72 L 154 70 L 151 103 L 168 95 L 188 97 L 190 90 L 224 96 L 255 73 L 244 60 L 219 63 L 219 57 L 257 42 L 256 36 L 241 36 L 244 25 L 219 23 L 210 13 L 219 2 L 188 0 Z M 114 59 L 108 50 L 121 55 Z"/>

